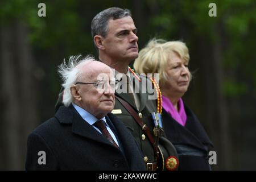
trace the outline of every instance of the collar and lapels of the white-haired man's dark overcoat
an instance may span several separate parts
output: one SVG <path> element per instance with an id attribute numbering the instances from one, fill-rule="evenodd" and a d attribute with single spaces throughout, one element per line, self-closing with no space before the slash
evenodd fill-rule
<path id="1" fill-rule="evenodd" d="M 107 144 L 115 148 L 113 144 L 111 144 L 105 137 L 102 137 L 98 131 L 85 122 L 72 105 L 69 107 L 60 106 L 59 110 L 55 114 L 55 118 L 63 125 L 72 125 L 72 132 L 74 134 L 92 139 L 96 142 L 100 142 L 101 144 Z M 142 154 L 139 147 L 136 146 L 137 143 L 135 142 L 133 135 L 129 133 L 121 121 L 118 121 L 114 114 L 107 114 L 106 121 L 113 126 L 114 131 L 117 132 L 118 139 L 121 142 L 123 151 L 126 154 L 126 162 L 130 166 L 131 170 L 136 170 L 138 168 L 142 169 L 144 167 L 143 160 L 141 160 L 141 163 L 138 161 L 142 159 Z"/>

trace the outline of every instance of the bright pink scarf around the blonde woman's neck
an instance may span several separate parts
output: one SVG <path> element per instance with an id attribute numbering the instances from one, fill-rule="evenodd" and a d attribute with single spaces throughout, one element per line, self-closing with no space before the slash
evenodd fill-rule
<path id="1" fill-rule="evenodd" d="M 163 100 L 163 108 L 167 111 L 167 113 L 171 114 L 171 117 L 175 119 L 180 125 L 185 126 L 187 121 L 187 114 L 185 113 L 184 104 L 182 99 L 180 98 L 177 106 L 179 111 L 177 111 L 172 104 L 172 102 L 167 98 L 162 96 Z"/>

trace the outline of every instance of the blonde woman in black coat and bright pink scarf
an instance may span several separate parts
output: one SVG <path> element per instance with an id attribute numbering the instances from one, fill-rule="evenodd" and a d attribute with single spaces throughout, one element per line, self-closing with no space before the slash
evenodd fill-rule
<path id="1" fill-rule="evenodd" d="M 179 170 L 210 170 L 208 147 L 212 142 L 181 98 L 191 81 L 188 63 L 185 43 L 153 39 L 139 52 L 134 68 L 138 73 L 159 73 L 163 128 L 176 147 Z"/>

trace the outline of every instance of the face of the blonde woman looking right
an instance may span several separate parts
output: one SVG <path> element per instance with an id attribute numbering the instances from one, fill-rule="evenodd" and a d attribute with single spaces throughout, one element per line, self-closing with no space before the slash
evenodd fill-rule
<path id="1" fill-rule="evenodd" d="M 187 91 L 191 75 L 188 70 L 188 61 L 181 59 L 176 52 L 169 55 L 167 68 L 167 82 L 162 86 L 164 92 L 182 97 Z"/>

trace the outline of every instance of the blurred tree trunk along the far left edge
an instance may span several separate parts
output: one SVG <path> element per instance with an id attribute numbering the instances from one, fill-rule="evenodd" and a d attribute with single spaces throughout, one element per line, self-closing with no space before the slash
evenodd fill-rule
<path id="1" fill-rule="evenodd" d="M 2 28 L 1 30 L 1 79 L 2 90 L 1 97 L 3 98 L 2 112 L 3 112 L 3 138 L 5 142 L 4 149 L 6 156 L 1 156 L 5 160 L 3 169 L 20 169 L 22 161 L 20 160 L 20 147 L 19 147 L 19 89 L 18 82 L 19 76 L 15 71 L 14 59 L 14 40 L 12 32 L 13 28 Z"/>

